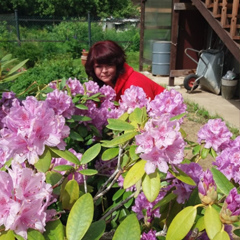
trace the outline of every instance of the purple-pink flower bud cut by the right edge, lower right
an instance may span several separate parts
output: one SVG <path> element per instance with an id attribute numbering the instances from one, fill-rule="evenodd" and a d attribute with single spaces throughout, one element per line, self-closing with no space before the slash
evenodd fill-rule
<path id="1" fill-rule="evenodd" d="M 220 219 L 223 223 L 232 224 L 238 221 L 240 214 L 240 194 L 233 188 L 227 196 L 220 211 Z"/>

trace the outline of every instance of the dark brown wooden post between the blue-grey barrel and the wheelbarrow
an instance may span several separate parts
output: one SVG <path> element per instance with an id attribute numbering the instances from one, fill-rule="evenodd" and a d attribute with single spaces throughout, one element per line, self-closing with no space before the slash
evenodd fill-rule
<path id="1" fill-rule="evenodd" d="M 179 11 L 174 10 L 174 4 L 180 0 L 172 0 L 172 29 L 171 29 L 171 53 L 170 53 L 170 76 L 168 85 L 174 86 L 174 77 L 171 77 L 171 70 L 176 70 L 177 63 L 177 43 L 178 43 L 178 21 Z"/>

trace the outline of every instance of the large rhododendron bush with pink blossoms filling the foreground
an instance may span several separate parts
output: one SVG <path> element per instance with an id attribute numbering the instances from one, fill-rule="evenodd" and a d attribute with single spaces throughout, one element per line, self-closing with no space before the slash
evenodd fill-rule
<path id="1" fill-rule="evenodd" d="M 189 141 L 174 89 L 151 101 L 132 86 L 114 100 L 111 87 L 77 79 L 26 99 L 3 93 L 0 239 L 240 236 L 240 137 L 212 119 Z"/>

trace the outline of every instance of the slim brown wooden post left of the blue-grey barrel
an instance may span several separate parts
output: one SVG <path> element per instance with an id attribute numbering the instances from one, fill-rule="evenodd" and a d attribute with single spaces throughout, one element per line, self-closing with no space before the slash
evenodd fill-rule
<path id="1" fill-rule="evenodd" d="M 145 28 L 145 2 L 146 2 L 146 0 L 141 0 L 139 71 L 143 70 L 143 48 L 144 48 L 144 28 Z"/>

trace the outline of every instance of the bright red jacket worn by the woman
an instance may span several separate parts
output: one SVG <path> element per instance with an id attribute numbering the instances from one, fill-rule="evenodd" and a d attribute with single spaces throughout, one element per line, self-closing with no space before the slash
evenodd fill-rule
<path id="1" fill-rule="evenodd" d="M 119 101 L 121 95 L 124 94 L 124 91 L 127 88 L 130 88 L 132 85 L 141 87 L 146 93 L 147 97 L 150 97 L 151 100 L 154 99 L 156 95 L 163 92 L 165 90 L 164 87 L 155 83 L 150 78 L 145 75 L 136 72 L 130 67 L 128 64 L 124 64 L 125 72 L 121 74 L 117 79 L 114 90 L 117 94 L 116 101 Z"/>

